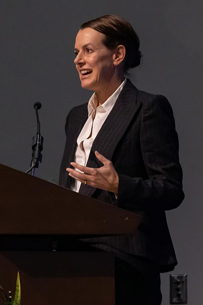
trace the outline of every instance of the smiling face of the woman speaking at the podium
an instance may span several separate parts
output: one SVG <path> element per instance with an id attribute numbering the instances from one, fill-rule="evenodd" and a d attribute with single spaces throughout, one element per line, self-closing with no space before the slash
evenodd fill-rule
<path id="1" fill-rule="evenodd" d="M 74 63 L 83 88 L 101 92 L 114 73 L 114 50 L 104 44 L 105 35 L 87 27 L 76 36 Z"/>

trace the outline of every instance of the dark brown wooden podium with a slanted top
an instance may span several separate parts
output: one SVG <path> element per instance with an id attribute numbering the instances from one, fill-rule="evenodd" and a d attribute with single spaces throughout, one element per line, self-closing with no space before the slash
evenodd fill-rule
<path id="1" fill-rule="evenodd" d="M 4 165 L 0 196 L 7 293 L 14 296 L 19 270 L 21 305 L 115 304 L 113 254 L 85 249 L 80 239 L 136 233 L 140 216 Z"/>

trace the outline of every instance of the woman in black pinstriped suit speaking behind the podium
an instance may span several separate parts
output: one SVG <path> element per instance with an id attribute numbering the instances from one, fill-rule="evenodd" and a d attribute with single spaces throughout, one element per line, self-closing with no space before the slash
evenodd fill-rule
<path id="1" fill-rule="evenodd" d="M 136 235 L 85 239 L 116 256 L 116 304 L 160 304 L 160 272 L 177 264 L 165 210 L 180 205 L 182 169 L 173 111 L 165 97 L 125 79 L 139 66 L 140 41 L 115 15 L 88 21 L 75 43 L 75 64 L 89 103 L 67 115 L 60 185 L 139 213 Z"/>

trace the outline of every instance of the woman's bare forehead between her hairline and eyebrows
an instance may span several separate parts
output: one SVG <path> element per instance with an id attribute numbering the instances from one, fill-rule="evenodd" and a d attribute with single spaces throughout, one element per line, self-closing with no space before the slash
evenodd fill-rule
<path id="1" fill-rule="evenodd" d="M 92 44 L 94 46 L 103 45 L 104 38 L 104 34 L 95 31 L 95 29 L 91 27 L 80 29 L 76 36 L 75 48 L 83 47 L 87 44 Z"/>

